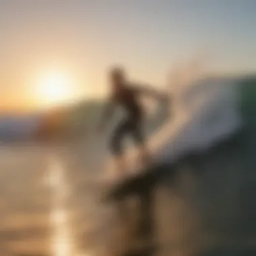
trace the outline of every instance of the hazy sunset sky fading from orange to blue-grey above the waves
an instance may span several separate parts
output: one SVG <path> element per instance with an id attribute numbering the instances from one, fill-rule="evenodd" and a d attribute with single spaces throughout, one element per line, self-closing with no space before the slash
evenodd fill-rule
<path id="1" fill-rule="evenodd" d="M 163 84 L 200 49 L 214 72 L 255 71 L 255 11 L 255 0 L 0 0 L 0 110 L 104 96 L 115 63 Z"/>

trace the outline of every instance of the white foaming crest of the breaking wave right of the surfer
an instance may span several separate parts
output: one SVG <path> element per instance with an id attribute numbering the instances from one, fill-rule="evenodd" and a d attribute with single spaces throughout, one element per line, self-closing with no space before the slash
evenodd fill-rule
<path id="1" fill-rule="evenodd" d="M 160 162 L 208 150 L 243 127 L 240 94 L 232 79 L 205 80 L 179 95 L 174 118 L 154 137 Z"/>

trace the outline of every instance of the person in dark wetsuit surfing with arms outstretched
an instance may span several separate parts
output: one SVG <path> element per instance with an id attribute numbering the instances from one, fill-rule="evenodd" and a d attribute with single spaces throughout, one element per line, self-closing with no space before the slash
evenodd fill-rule
<path id="1" fill-rule="evenodd" d="M 120 121 L 110 139 L 110 150 L 115 158 L 117 170 L 125 170 L 123 159 L 123 141 L 127 135 L 133 137 L 139 150 L 138 160 L 142 166 L 149 160 L 148 148 L 146 147 L 143 123 L 145 120 L 145 110 L 141 104 L 139 96 L 141 94 L 152 96 L 158 100 L 166 100 L 164 94 L 160 94 L 148 88 L 148 86 L 138 86 L 129 83 L 123 68 L 115 67 L 110 70 L 110 97 L 108 104 L 102 113 L 102 119 L 98 130 L 104 131 L 106 123 L 110 120 L 116 106 L 121 106 L 125 110 L 126 116 Z"/>

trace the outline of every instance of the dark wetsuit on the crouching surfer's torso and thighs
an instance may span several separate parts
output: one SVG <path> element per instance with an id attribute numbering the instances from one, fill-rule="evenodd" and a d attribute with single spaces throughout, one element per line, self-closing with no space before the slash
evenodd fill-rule
<path id="1" fill-rule="evenodd" d="M 110 98 L 110 102 L 121 106 L 127 114 L 117 124 L 110 139 L 110 150 L 115 155 L 123 153 L 122 143 L 125 135 L 131 135 L 138 145 L 143 144 L 143 108 L 138 98 L 140 92 L 139 88 L 125 86 L 119 92 L 114 92 Z"/>

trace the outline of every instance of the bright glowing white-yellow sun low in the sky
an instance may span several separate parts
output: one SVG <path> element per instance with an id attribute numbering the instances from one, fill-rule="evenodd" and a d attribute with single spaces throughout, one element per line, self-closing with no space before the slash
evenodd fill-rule
<path id="1" fill-rule="evenodd" d="M 38 79 L 36 94 L 46 107 L 68 102 L 74 94 L 71 79 L 61 72 L 46 73 Z"/>

